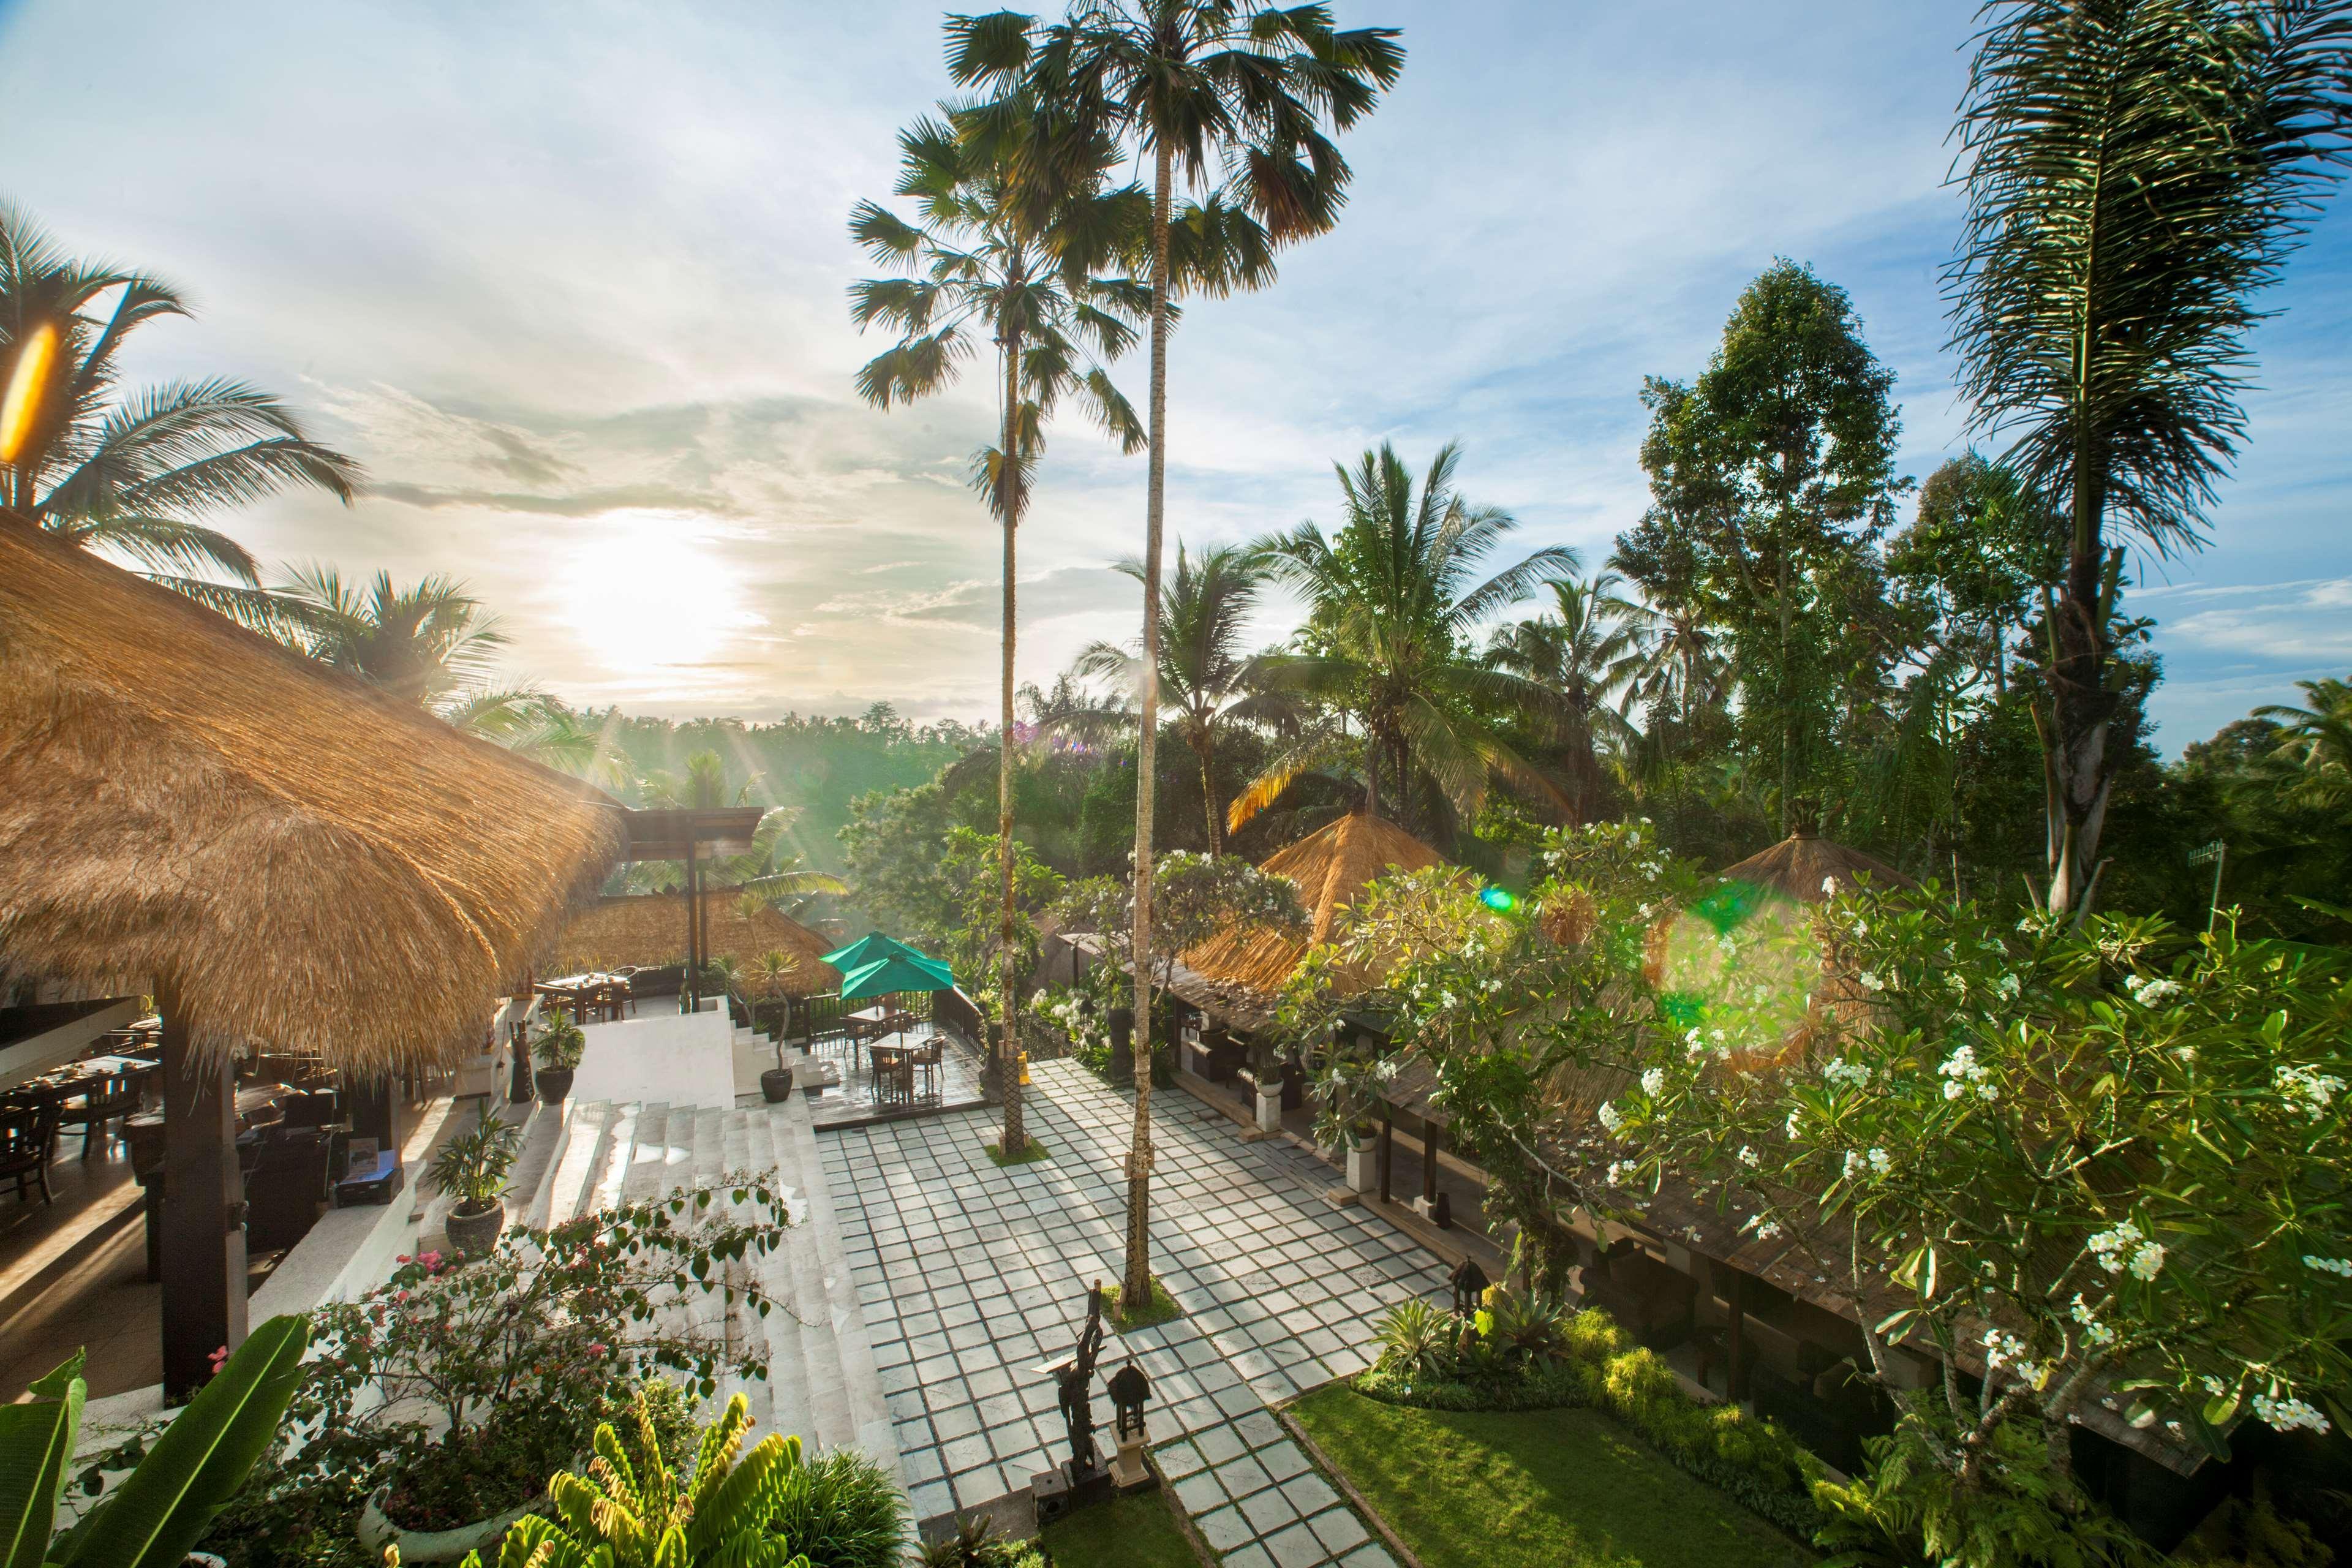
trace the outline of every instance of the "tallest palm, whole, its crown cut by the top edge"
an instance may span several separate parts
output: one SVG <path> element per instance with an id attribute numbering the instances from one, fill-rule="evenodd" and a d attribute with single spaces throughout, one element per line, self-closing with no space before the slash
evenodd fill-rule
<path id="1" fill-rule="evenodd" d="M 1096 134 L 1152 165 L 1152 388 L 1143 522 L 1143 693 L 1136 757 L 1134 950 L 1150 952 L 1152 769 L 1160 733 L 1160 555 L 1167 517 L 1171 306 L 1272 282 L 1277 244 L 1338 221 L 1348 160 L 1324 125 L 1348 129 L 1404 68 L 1395 28 L 1331 26 L 1327 5 L 1263 0 L 1073 0 L 1042 31 L 1018 12 L 950 16 L 948 68 L 960 82 L 1025 96 L 1068 118 L 1023 150 L 1023 181 L 1058 186 L 1087 167 Z M 1202 190 L 1178 214 L 1176 179 Z M 1138 1067 L 1150 1056 L 1150 964 L 1136 964 Z M 1127 1152 L 1127 1300 L 1150 1300 L 1150 1072 L 1136 1072 Z"/>

